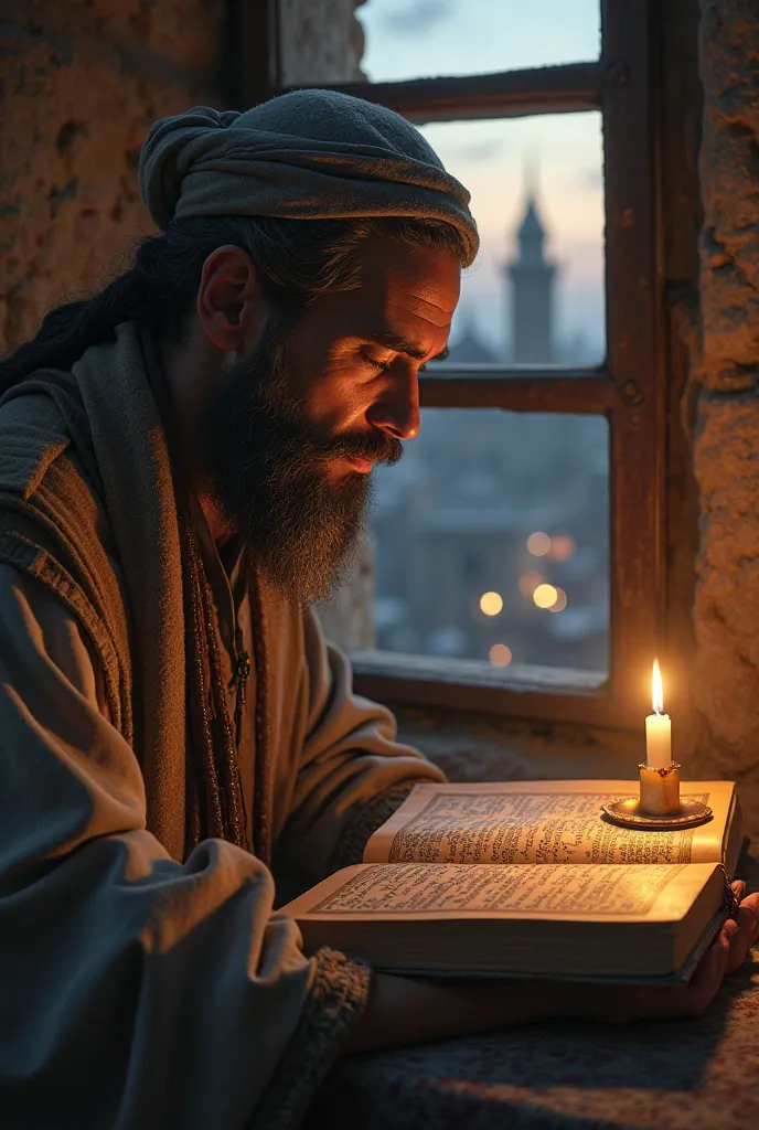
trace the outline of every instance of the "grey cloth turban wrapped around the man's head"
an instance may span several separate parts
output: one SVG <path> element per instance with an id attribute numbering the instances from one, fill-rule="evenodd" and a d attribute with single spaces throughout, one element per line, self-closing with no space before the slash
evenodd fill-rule
<path id="1" fill-rule="evenodd" d="M 151 128 L 140 193 L 155 224 L 199 216 L 416 216 L 479 246 L 470 195 L 419 130 L 334 90 L 295 90 L 244 113 L 195 106 Z"/>

